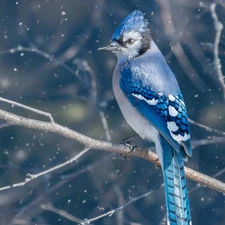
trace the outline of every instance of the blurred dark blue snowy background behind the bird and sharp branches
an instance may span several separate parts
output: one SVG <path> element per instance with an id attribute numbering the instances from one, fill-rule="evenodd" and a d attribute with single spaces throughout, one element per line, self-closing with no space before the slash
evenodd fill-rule
<path id="1" fill-rule="evenodd" d="M 49 112 L 54 120 L 92 138 L 120 143 L 134 134 L 112 92 L 109 43 L 132 11 L 146 13 L 152 38 L 175 73 L 190 119 L 225 130 L 225 2 L 196 0 L 0 1 L 0 96 Z M 1 109 L 48 119 L 11 104 Z M 225 135 L 191 125 L 187 166 L 225 181 Z M 76 156 L 84 146 L 56 134 L 9 126 L 0 129 L 0 186 L 16 184 Z M 153 147 L 140 139 L 135 143 Z M 69 166 L 23 187 L 0 191 L 0 224 L 163 225 L 160 169 L 136 157 L 88 151 Z M 193 225 L 225 223 L 225 197 L 188 180 Z M 68 214 L 66 214 L 68 213 Z M 65 216 L 77 218 L 65 218 Z"/>

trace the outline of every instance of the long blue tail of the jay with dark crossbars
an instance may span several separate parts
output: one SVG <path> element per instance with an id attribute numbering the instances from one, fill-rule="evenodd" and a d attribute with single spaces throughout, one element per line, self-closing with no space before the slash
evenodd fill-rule
<path id="1" fill-rule="evenodd" d="M 192 225 L 184 161 L 170 144 L 160 138 L 166 192 L 167 224 Z"/>

